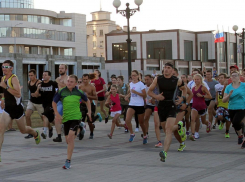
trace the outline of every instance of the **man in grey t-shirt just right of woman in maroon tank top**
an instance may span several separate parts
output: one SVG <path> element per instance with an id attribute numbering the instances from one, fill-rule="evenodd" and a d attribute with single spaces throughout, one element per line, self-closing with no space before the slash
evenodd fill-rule
<path id="1" fill-rule="evenodd" d="M 208 107 L 208 120 L 211 123 L 211 125 L 213 126 L 213 118 L 216 115 L 215 112 L 215 97 L 216 97 L 216 92 L 215 92 L 215 85 L 217 85 L 219 82 L 215 81 L 212 79 L 212 71 L 207 70 L 206 72 L 206 79 L 205 82 L 207 83 L 208 87 L 209 87 L 209 92 L 212 96 L 212 99 L 206 99 L 206 105 Z"/>

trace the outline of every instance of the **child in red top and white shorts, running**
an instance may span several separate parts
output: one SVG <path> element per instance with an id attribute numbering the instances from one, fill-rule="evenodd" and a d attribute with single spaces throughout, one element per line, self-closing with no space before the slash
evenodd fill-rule
<path id="1" fill-rule="evenodd" d="M 110 132 L 110 134 L 107 135 L 110 139 L 112 139 L 112 135 L 113 135 L 113 132 L 115 129 L 115 125 L 120 126 L 120 127 L 124 127 L 125 129 L 127 129 L 127 126 L 126 126 L 126 124 L 120 124 L 118 122 L 118 118 L 120 117 L 120 115 L 122 113 L 122 108 L 121 108 L 121 104 L 120 104 L 119 94 L 117 93 L 117 86 L 116 85 L 111 86 L 110 93 L 111 94 L 107 97 L 105 105 L 110 108 L 111 117 L 113 118 L 112 124 L 111 124 L 111 132 Z"/>

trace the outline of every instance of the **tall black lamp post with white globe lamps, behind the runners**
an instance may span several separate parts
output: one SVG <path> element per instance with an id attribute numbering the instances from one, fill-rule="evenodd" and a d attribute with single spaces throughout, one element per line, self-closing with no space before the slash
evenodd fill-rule
<path id="1" fill-rule="evenodd" d="M 133 16 L 137 11 L 140 11 L 140 5 L 143 3 L 143 0 L 134 0 L 134 3 L 138 6 L 138 8 L 130 9 L 129 3 L 126 4 L 127 8 L 125 10 L 118 10 L 121 6 L 120 0 L 114 0 L 113 6 L 117 9 L 117 13 L 120 13 L 122 16 L 127 18 L 127 26 L 128 26 L 128 39 L 126 40 L 128 43 L 128 75 L 130 77 L 132 71 L 132 64 L 131 64 L 131 42 L 130 39 L 130 27 L 129 27 L 129 18 Z"/>

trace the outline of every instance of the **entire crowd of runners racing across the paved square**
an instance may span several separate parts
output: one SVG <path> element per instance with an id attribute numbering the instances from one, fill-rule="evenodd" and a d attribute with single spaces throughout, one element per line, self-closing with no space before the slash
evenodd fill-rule
<path id="1" fill-rule="evenodd" d="M 133 70 L 129 83 L 123 76 L 111 75 L 111 82 L 106 84 L 99 70 L 84 74 L 82 78 L 67 75 L 67 65 L 59 66 L 60 76 L 51 80 L 51 72 L 44 71 L 42 80 L 37 79 L 36 71 L 30 70 L 28 88 L 30 100 L 26 111 L 21 100 L 19 80 L 12 73 L 14 63 L 4 61 L 1 79 L 1 109 L 0 120 L 0 162 L 4 132 L 16 120 L 22 134 L 28 134 L 26 139 L 34 138 L 36 144 L 41 138 L 53 137 L 53 126 L 57 136 L 53 142 L 62 142 L 65 135 L 67 159 L 64 169 L 70 169 L 74 141 L 82 140 L 89 126 L 89 139 L 93 139 L 95 121 L 102 121 L 97 113 L 99 103 L 105 123 L 111 117 L 111 128 L 108 128 L 108 138 L 114 138 L 115 127 L 125 128 L 129 133 L 129 142 L 133 142 L 141 128 L 142 142 L 148 143 L 149 119 L 154 116 L 156 144 L 153 147 L 162 148 L 160 160 L 165 162 L 172 141 L 172 134 L 179 142 L 178 151 L 186 147 L 187 138 L 190 141 L 199 139 L 199 129 L 206 125 L 210 133 L 216 126 L 220 130 L 225 126 L 225 138 L 230 138 L 231 127 L 238 136 L 238 144 L 245 148 L 244 124 L 245 117 L 245 83 L 239 68 L 230 67 L 230 76 L 226 73 L 217 75 L 217 71 L 193 69 L 191 75 L 179 75 L 178 69 L 172 63 L 166 63 L 161 75 L 142 75 Z M 243 70 L 245 72 L 245 70 Z M 109 112 L 105 108 L 109 108 Z M 31 128 L 31 115 L 37 111 L 43 121 L 43 131 Z M 123 117 L 120 117 L 123 116 Z M 131 123 L 135 119 L 136 127 Z M 123 121 L 121 121 L 123 120 Z M 161 130 L 165 133 L 164 142 Z M 106 135 L 106 134 L 105 134 Z"/>

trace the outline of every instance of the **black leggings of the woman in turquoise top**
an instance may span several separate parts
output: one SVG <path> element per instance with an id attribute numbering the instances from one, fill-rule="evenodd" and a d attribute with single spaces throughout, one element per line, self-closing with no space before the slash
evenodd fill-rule
<path id="1" fill-rule="evenodd" d="M 242 129 L 241 122 L 243 118 L 245 117 L 245 110 L 244 109 L 229 110 L 229 115 L 230 115 L 230 119 L 231 119 L 231 122 L 235 130 L 239 131 L 240 129 Z"/>

